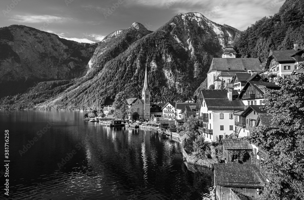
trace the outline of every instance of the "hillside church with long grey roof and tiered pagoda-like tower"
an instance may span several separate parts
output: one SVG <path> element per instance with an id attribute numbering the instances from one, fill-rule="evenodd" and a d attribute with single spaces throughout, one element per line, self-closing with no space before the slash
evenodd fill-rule
<path id="1" fill-rule="evenodd" d="M 207 87 L 223 79 L 225 83 L 229 83 L 236 73 L 251 73 L 262 70 L 261 62 L 258 58 L 236 58 L 233 46 L 227 44 L 224 49 L 222 58 L 213 58 L 209 71 L 207 73 Z M 234 53 L 235 52 L 235 53 Z M 218 79 L 219 78 L 219 79 Z"/>

